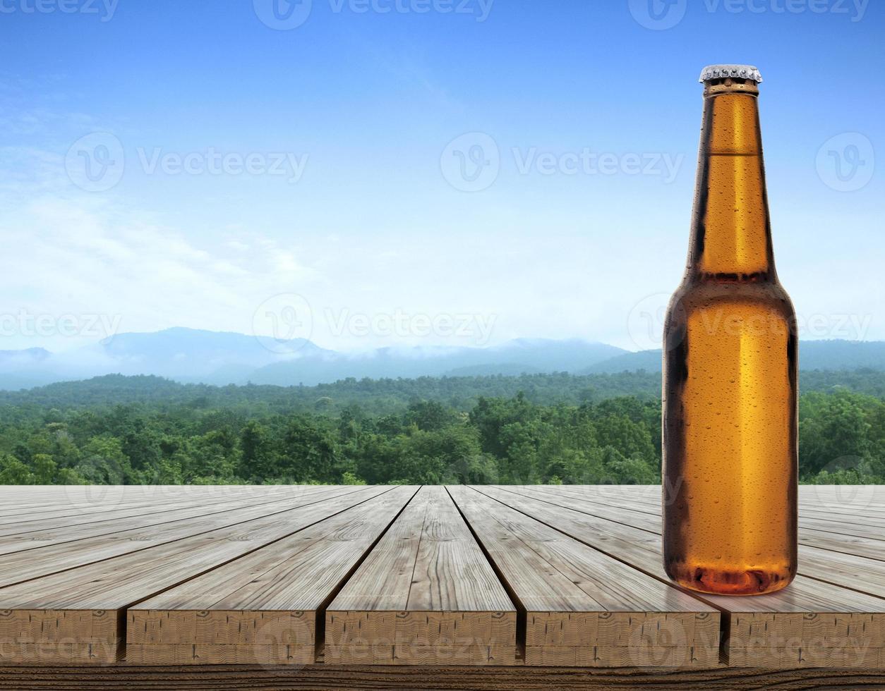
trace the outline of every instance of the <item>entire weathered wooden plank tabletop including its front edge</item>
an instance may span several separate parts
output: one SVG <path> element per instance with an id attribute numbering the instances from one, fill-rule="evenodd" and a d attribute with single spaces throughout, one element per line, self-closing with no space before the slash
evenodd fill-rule
<path id="1" fill-rule="evenodd" d="M 659 487 L 3 487 L 0 688 L 885 687 L 885 488 L 799 496 L 717 597 Z"/>

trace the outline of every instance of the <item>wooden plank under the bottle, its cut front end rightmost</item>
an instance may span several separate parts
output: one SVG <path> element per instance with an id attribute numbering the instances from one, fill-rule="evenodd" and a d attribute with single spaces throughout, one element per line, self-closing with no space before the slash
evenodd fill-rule
<path id="1" fill-rule="evenodd" d="M 659 534 L 552 504 L 525 488 L 476 489 L 670 582 L 661 563 Z M 696 596 L 725 615 L 728 664 L 885 667 L 885 600 L 881 598 L 802 575 L 773 595 Z"/>

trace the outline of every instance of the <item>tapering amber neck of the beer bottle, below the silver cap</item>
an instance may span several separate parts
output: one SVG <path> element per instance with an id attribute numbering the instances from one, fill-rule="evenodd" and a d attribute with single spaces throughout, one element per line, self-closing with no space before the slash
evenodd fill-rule
<path id="1" fill-rule="evenodd" d="M 757 98 L 753 82 L 705 85 L 690 280 L 776 280 Z"/>

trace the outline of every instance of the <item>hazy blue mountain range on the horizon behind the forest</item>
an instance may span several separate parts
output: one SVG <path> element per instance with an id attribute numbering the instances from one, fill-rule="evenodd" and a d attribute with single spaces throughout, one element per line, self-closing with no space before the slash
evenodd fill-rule
<path id="1" fill-rule="evenodd" d="M 885 342 L 802 342 L 799 360 L 804 370 L 869 367 L 885 371 Z M 112 373 L 155 374 L 183 383 L 312 386 L 349 377 L 657 372 L 660 367 L 660 350 L 631 352 L 577 339 L 516 339 L 489 348 L 390 347 L 344 353 L 304 340 L 268 343 L 245 334 L 176 327 L 150 334 L 117 334 L 61 353 L 42 348 L 0 350 L 0 388 L 31 388 Z"/>

